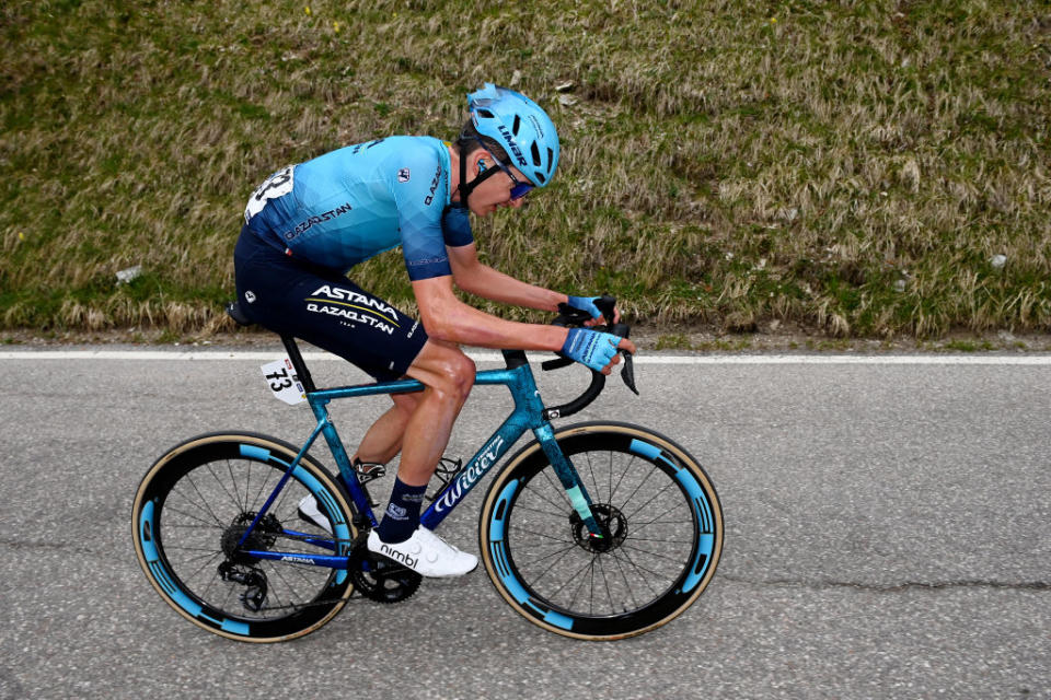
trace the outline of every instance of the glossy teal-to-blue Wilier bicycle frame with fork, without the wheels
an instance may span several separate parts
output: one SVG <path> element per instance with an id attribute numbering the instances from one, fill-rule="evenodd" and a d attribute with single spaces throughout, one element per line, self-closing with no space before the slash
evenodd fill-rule
<path id="1" fill-rule="evenodd" d="M 289 348 L 292 350 L 292 348 Z M 360 384 L 355 386 L 343 386 L 334 388 L 314 389 L 310 375 L 305 372 L 305 365 L 297 352 L 290 352 L 291 360 L 300 372 L 300 376 L 305 381 L 307 402 L 310 405 L 317 424 L 311 432 L 307 442 L 296 458 L 288 465 L 284 477 L 279 480 L 274 491 L 269 494 L 264 505 L 259 509 L 252 522 L 251 527 L 242 536 L 239 546 L 243 546 L 249 539 L 252 530 L 255 529 L 259 521 L 269 510 L 270 505 L 277 499 L 285 483 L 290 478 L 292 471 L 299 465 L 303 455 L 317 440 L 319 435 L 324 435 L 328 450 L 336 460 L 339 468 L 339 476 L 347 488 L 354 502 L 354 508 L 358 516 L 362 516 L 376 527 L 379 522 L 372 512 L 368 495 L 358 482 L 357 472 L 350 464 L 346 447 L 336 431 L 330 416 L 327 406 L 331 401 L 344 398 L 357 398 L 362 396 L 376 396 L 379 394 L 408 394 L 423 390 L 424 384 L 415 380 L 399 380 L 394 382 L 378 382 L 372 384 Z M 548 416 L 556 417 L 559 409 L 545 409 L 540 393 L 536 389 L 536 383 L 533 377 L 531 366 L 526 359 L 526 353 L 521 351 L 505 351 L 504 353 L 507 368 L 503 370 L 486 370 L 475 375 L 475 385 L 503 385 L 508 387 L 515 401 L 515 408 L 496 429 L 496 431 L 483 443 L 483 446 L 471 458 L 466 467 L 461 469 L 453 479 L 436 495 L 431 504 L 420 514 L 420 524 L 428 529 L 435 529 L 438 525 L 463 501 L 467 493 L 478 483 L 478 481 L 507 454 L 508 450 L 518 442 L 519 438 L 528 431 L 540 443 L 544 454 L 551 460 L 552 466 L 558 477 L 559 482 L 566 489 L 566 495 L 569 499 L 574 510 L 587 525 L 590 535 L 594 538 L 603 537 L 603 533 L 591 512 L 591 498 L 587 492 L 582 481 L 577 475 L 576 469 L 569 463 L 568 458 L 562 453 L 557 441 L 554 439 L 554 430 Z M 601 375 L 599 375 L 601 376 Z M 336 542 L 332 539 L 325 539 L 316 536 L 304 535 L 294 530 L 285 530 L 287 535 L 296 536 L 311 544 L 336 550 Z M 344 551 L 346 548 L 344 548 Z M 314 564 L 319 567 L 330 567 L 333 569 L 346 569 L 348 556 L 325 556 L 325 555 L 303 555 L 280 552 L 273 550 L 246 550 L 249 556 L 257 559 L 287 560 L 292 559 L 298 563 Z"/>

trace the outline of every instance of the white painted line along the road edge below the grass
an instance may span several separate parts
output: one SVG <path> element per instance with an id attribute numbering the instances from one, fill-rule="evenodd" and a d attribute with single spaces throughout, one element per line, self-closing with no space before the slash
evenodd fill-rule
<path id="1" fill-rule="evenodd" d="M 268 362 L 282 355 L 282 351 L 224 351 L 224 350 L 15 350 L 0 351 L 0 360 L 162 360 L 209 361 L 238 360 Z M 496 352 L 467 352 L 475 362 L 500 362 Z M 533 353 L 545 359 L 546 353 Z M 550 357 L 550 355 L 547 355 Z M 304 352 L 308 362 L 340 360 L 327 352 Z M 638 364 L 977 364 L 977 365 L 1051 365 L 1051 354 L 640 354 Z"/>

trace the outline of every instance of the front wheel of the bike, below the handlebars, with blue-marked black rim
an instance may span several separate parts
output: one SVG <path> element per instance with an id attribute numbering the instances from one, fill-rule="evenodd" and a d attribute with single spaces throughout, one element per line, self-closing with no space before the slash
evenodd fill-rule
<path id="1" fill-rule="evenodd" d="M 528 620 L 587 640 L 642 634 L 704 592 L 723 549 L 723 510 L 701 465 L 652 431 L 582 423 L 555 440 L 609 528 L 597 542 L 539 443 L 496 476 L 480 539 L 497 591 Z"/>

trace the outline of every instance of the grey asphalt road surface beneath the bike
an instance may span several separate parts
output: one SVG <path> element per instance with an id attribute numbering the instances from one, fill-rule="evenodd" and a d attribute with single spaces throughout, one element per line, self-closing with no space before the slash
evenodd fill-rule
<path id="1" fill-rule="evenodd" d="M 480 570 L 254 645 L 157 596 L 129 516 L 185 438 L 307 436 L 308 409 L 270 398 L 259 364 L 3 359 L 0 698 L 1051 698 L 1048 364 L 639 365 L 640 398 L 611 383 L 582 418 L 663 432 L 716 483 L 723 561 L 682 617 L 563 639 Z M 383 400 L 334 406 L 347 442 Z M 505 407 L 480 387 L 450 453 L 470 456 Z M 442 526 L 471 551 L 481 501 Z"/>

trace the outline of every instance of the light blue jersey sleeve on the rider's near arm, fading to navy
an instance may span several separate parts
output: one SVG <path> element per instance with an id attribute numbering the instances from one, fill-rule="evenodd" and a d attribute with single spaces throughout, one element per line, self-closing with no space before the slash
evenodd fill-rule
<path id="1" fill-rule="evenodd" d="M 399 153 L 392 167 L 391 188 L 408 279 L 415 282 L 452 275 L 441 223 L 449 198 L 448 167 L 432 149 Z"/>

